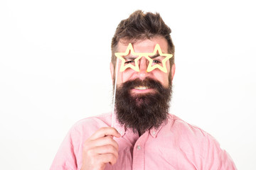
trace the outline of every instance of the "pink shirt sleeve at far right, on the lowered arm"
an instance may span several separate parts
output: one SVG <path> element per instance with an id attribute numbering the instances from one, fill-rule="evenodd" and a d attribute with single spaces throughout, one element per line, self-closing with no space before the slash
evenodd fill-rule
<path id="1" fill-rule="evenodd" d="M 234 170 L 237 169 L 228 152 L 220 148 L 219 143 L 208 135 L 203 169 Z"/>

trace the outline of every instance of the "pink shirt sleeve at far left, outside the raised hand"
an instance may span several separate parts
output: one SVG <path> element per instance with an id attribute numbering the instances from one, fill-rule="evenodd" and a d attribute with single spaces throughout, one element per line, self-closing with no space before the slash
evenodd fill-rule
<path id="1" fill-rule="evenodd" d="M 73 146 L 74 128 L 71 128 L 58 149 L 50 170 L 75 170 L 78 169 Z"/>

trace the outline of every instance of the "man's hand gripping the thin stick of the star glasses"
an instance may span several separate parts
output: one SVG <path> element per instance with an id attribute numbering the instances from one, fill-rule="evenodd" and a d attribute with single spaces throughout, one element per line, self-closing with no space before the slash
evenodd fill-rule
<path id="1" fill-rule="evenodd" d="M 118 145 L 113 137 L 121 135 L 116 129 L 105 127 L 97 130 L 84 143 L 81 170 L 102 170 L 107 163 L 115 164 L 118 157 Z"/>

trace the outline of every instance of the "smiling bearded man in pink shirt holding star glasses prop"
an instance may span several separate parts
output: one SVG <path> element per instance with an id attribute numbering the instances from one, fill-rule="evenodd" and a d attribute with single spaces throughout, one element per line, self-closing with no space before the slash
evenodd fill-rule
<path id="1" fill-rule="evenodd" d="M 135 11 L 112 38 L 114 114 L 80 120 L 50 169 L 236 169 L 218 142 L 168 113 L 174 79 L 171 29 Z"/>

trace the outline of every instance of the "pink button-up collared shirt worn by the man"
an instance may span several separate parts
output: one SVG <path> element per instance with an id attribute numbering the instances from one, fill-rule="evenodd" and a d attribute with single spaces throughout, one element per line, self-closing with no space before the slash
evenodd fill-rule
<path id="1" fill-rule="evenodd" d="M 51 170 L 81 169 L 82 145 L 96 130 L 111 126 L 112 114 L 85 118 L 73 125 L 53 160 Z M 122 137 L 114 139 L 119 145 L 119 157 L 105 169 L 236 169 L 225 150 L 208 133 L 189 125 L 175 115 L 158 130 L 151 129 L 142 136 L 125 130 L 116 121 L 114 128 Z"/>

